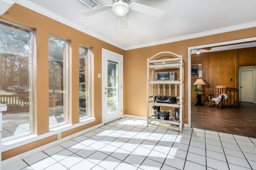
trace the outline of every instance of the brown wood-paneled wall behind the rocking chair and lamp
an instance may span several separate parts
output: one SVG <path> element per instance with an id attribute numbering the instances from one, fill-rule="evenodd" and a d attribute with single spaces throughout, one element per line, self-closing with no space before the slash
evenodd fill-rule
<path id="1" fill-rule="evenodd" d="M 238 107 L 238 67 L 256 65 L 256 47 L 192 54 L 191 64 L 202 64 L 202 102 L 206 103 L 208 93 L 212 94 L 212 86 L 226 85 L 228 99 L 224 105 Z M 191 79 L 191 88 L 195 87 L 197 78 Z M 191 92 L 191 101 L 196 103 L 196 95 Z"/>

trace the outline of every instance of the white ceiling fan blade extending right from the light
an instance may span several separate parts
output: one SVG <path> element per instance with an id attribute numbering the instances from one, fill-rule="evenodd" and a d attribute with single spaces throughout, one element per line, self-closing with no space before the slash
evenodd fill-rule
<path id="1" fill-rule="evenodd" d="M 142 12 L 144 14 L 148 14 L 151 16 L 155 16 L 158 18 L 161 18 L 162 16 L 164 16 L 164 13 L 165 13 L 164 10 L 160 10 L 158 8 L 153 8 L 151 6 L 146 6 L 143 4 L 138 4 L 136 2 L 132 2 L 130 4 L 130 9 L 134 11 Z"/>

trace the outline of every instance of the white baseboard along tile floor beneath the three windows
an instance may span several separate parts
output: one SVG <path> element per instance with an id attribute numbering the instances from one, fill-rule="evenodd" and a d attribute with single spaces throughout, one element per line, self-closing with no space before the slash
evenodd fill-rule
<path id="1" fill-rule="evenodd" d="M 96 126 L 94 126 L 94 127 L 90 127 L 90 128 L 85 129 L 85 130 L 82 130 L 82 131 L 80 131 L 80 132 L 71 134 L 71 135 L 69 135 L 69 136 L 67 136 L 67 137 L 65 137 L 65 138 L 61 138 L 60 140 L 55 140 L 54 142 L 48 143 L 48 144 L 46 144 L 46 145 L 44 145 L 44 146 L 40 146 L 40 147 L 35 148 L 35 149 L 33 149 L 33 150 L 30 150 L 30 151 L 28 151 L 28 152 L 24 152 L 24 153 L 22 153 L 22 154 L 19 154 L 19 155 L 17 155 L 17 156 L 12 157 L 12 158 L 3 160 L 3 161 L 2 161 L 2 167 L 7 166 L 7 165 L 9 165 L 9 164 L 12 164 L 12 163 L 14 163 L 14 162 L 17 162 L 17 161 L 19 161 L 19 160 L 22 160 L 22 159 L 24 159 L 24 158 L 26 158 L 26 157 L 28 157 L 28 156 L 31 156 L 31 155 L 33 155 L 33 154 L 36 154 L 36 153 L 38 153 L 38 152 L 42 152 L 43 150 L 46 150 L 46 149 L 51 148 L 51 147 L 53 147 L 53 146 L 56 146 L 56 145 L 58 145 L 58 144 L 60 144 L 60 143 L 62 143 L 62 142 L 66 142 L 67 140 L 70 140 L 70 139 L 72 139 L 72 138 L 75 138 L 75 137 L 77 137 L 77 136 L 80 136 L 80 135 L 82 135 L 82 134 L 84 134 L 84 133 L 86 133 L 86 132 L 90 132 L 90 131 L 92 131 L 92 130 L 98 128 L 98 127 L 102 127 L 103 125 L 104 125 L 104 124 L 101 123 L 101 124 L 96 125 Z"/>

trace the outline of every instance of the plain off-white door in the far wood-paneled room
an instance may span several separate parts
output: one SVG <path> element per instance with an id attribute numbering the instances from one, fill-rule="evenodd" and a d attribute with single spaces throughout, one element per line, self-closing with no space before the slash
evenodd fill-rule
<path id="1" fill-rule="evenodd" d="M 253 100 L 253 71 L 240 71 L 240 101 L 254 102 Z"/>

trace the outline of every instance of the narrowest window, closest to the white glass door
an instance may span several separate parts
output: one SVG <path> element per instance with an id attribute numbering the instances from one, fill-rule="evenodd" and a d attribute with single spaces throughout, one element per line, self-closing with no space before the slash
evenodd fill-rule
<path id="1" fill-rule="evenodd" d="M 90 49 L 79 46 L 79 118 L 90 117 Z"/>

